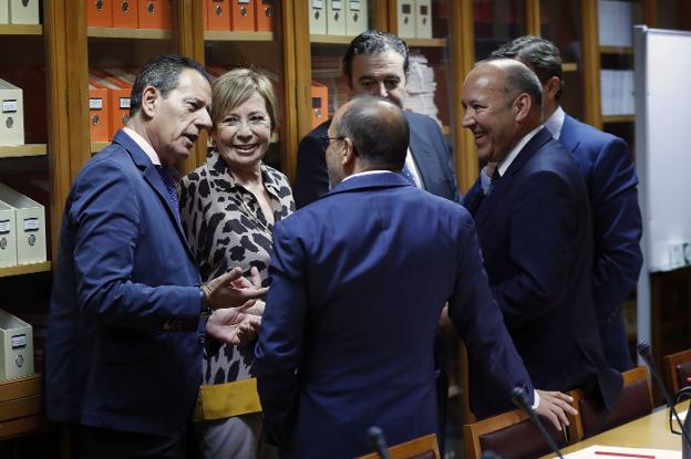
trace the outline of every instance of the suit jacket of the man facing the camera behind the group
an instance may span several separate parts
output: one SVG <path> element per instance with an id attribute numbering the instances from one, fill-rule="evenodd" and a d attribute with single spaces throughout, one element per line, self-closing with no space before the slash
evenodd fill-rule
<path id="1" fill-rule="evenodd" d="M 429 116 L 405 111 L 410 127 L 410 150 L 422 176 L 424 188 L 433 195 L 461 202 L 461 191 L 451 163 L 448 145 L 439 125 Z M 326 153 L 319 137 L 326 136 L 331 119 L 320 124 L 298 148 L 298 170 L 293 196 L 298 208 L 329 192 Z"/>

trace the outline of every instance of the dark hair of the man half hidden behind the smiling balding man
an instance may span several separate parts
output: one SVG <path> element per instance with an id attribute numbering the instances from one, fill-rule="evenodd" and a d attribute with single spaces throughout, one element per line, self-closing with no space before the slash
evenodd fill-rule
<path id="1" fill-rule="evenodd" d="M 558 76 L 560 82 L 557 92 L 557 101 L 561 97 L 564 86 L 564 71 L 561 70 L 561 54 L 557 46 L 542 36 L 519 36 L 495 50 L 491 59 L 516 59 L 529 66 L 539 81 L 545 84 L 553 76 Z"/>

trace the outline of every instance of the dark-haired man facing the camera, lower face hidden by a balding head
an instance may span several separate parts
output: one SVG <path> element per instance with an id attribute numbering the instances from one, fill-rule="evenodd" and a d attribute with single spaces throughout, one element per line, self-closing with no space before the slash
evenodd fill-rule
<path id="1" fill-rule="evenodd" d="M 343 74 L 352 95 L 385 97 L 403 106 L 408 81 L 408 45 L 391 33 L 370 30 L 355 36 L 343 55 Z M 419 113 L 405 112 L 410 125 L 410 147 L 403 175 L 417 188 L 461 202 L 451 152 L 436 122 Z M 324 146 L 331 121 L 314 128 L 300 142 L 293 196 L 299 208 L 329 191 Z"/>

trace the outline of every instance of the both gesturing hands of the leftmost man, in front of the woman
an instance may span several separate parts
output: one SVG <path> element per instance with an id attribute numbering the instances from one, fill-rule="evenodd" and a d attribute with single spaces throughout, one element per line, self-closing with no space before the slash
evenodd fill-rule
<path id="1" fill-rule="evenodd" d="M 257 268 L 250 270 L 251 282 L 240 268 L 212 279 L 204 285 L 206 304 L 214 311 L 206 322 L 206 334 L 228 344 L 243 345 L 254 341 L 261 325 L 264 296 Z"/>

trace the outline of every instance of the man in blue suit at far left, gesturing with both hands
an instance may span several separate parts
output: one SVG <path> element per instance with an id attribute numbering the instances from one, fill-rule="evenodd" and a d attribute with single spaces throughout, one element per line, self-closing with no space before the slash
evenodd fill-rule
<path id="1" fill-rule="evenodd" d="M 205 331 L 234 344 L 266 293 L 234 270 L 199 285 L 167 171 L 212 125 L 206 71 L 152 59 L 131 118 L 90 159 L 65 204 L 45 344 L 48 417 L 70 423 L 84 458 L 182 458 L 200 384 Z M 208 309 L 214 313 L 203 316 Z"/>

